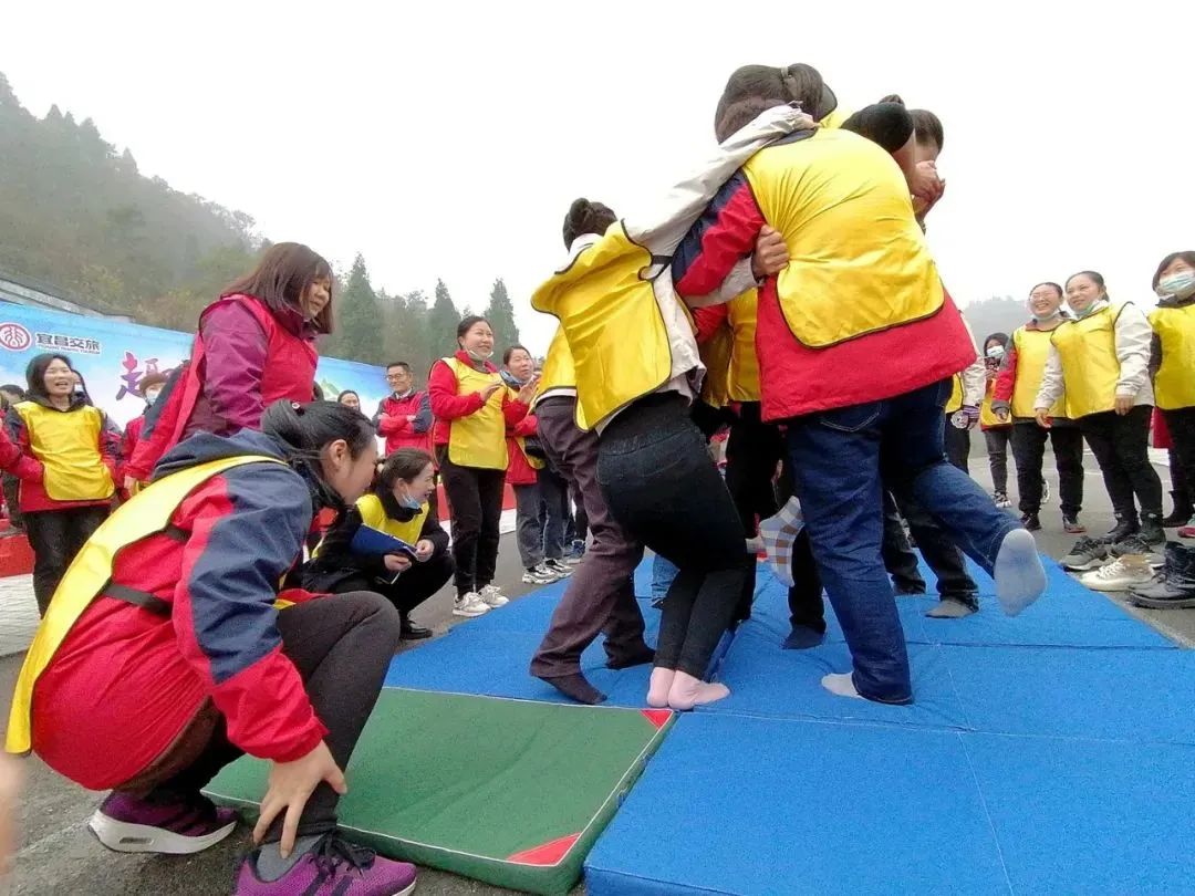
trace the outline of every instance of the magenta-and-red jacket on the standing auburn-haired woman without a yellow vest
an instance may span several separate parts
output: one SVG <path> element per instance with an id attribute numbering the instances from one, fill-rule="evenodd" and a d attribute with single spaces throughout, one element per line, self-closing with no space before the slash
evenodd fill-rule
<path id="1" fill-rule="evenodd" d="M 257 429 L 275 401 L 311 401 L 318 360 L 299 312 L 275 315 L 251 295 L 222 296 L 200 315 L 191 361 L 158 395 L 125 474 L 147 481 L 158 459 L 196 432 Z"/>

